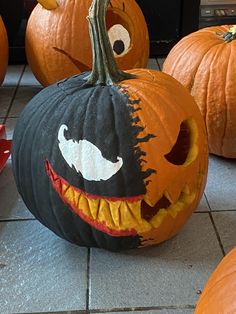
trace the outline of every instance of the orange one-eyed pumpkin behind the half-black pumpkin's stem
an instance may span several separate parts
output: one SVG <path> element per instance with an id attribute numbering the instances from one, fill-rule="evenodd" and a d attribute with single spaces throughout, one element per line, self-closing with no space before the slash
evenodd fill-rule
<path id="1" fill-rule="evenodd" d="M 92 51 L 87 14 L 91 0 L 40 0 L 26 29 L 26 53 L 30 67 L 47 86 L 88 71 Z M 46 7 L 46 9 L 45 9 Z M 146 67 L 148 30 L 135 0 L 112 0 L 106 15 L 109 39 L 122 69 Z"/>

